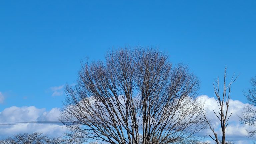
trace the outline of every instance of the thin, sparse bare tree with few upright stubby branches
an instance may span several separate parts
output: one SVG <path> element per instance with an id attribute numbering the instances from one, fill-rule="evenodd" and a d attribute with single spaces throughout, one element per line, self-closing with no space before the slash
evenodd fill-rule
<path id="1" fill-rule="evenodd" d="M 214 137 L 212 137 L 211 135 L 209 135 L 217 144 L 221 143 L 221 144 L 227 144 L 226 142 L 226 127 L 228 126 L 228 120 L 230 118 L 230 116 L 232 115 L 232 113 L 228 114 L 228 107 L 229 107 L 229 100 L 230 100 L 230 92 L 231 92 L 231 84 L 236 80 L 237 77 L 235 77 L 235 79 L 231 79 L 230 83 L 228 85 L 226 85 L 226 76 L 227 76 L 227 68 L 225 68 L 224 71 L 224 82 L 223 82 L 223 93 L 220 93 L 220 85 L 219 85 L 219 77 L 216 81 L 217 86 L 213 83 L 213 87 L 214 87 L 214 93 L 215 96 L 217 98 L 217 104 L 219 107 L 219 111 L 218 113 L 216 113 L 213 110 L 213 113 L 216 115 L 216 117 L 219 119 L 220 121 L 220 126 L 221 126 L 221 130 L 222 130 L 222 139 L 219 140 L 218 139 L 218 135 L 217 132 L 214 130 L 214 126 L 213 124 L 209 121 L 209 119 L 206 117 L 206 114 L 204 112 L 204 110 L 199 109 L 200 114 L 203 117 L 203 120 L 208 124 L 208 126 L 210 127 L 210 129 L 212 130 Z M 231 142 L 228 142 L 231 143 Z"/>

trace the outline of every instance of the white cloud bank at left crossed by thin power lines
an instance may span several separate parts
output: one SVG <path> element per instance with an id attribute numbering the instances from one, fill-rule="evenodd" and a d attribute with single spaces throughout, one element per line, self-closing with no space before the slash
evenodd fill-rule
<path id="1" fill-rule="evenodd" d="M 16 107 L 12 106 L 0 112 L 0 131 L 4 132 L 0 138 L 5 138 L 18 133 L 43 132 L 49 136 L 61 136 L 66 132 L 66 127 L 57 123 L 47 123 L 51 125 L 38 125 L 31 121 L 58 121 L 60 108 L 53 108 L 50 111 L 36 108 L 34 106 Z M 25 121 L 25 122 L 7 122 Z M 29 122 L 30 121 L 30 122 Z M 42 123 L 41 123 L 42 124 Z"/>

